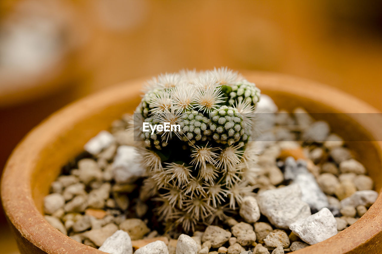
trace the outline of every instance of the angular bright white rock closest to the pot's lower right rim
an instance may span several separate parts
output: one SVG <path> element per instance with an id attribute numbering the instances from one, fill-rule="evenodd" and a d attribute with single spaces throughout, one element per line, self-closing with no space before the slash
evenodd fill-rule
<path id="1" fill-rule="evenodd" d="M 337 221 L 329 209 L 322 208 L 308 218 L 291 223 L 290 229 L 306 243 L 315 244 L 337 234 Z"/>

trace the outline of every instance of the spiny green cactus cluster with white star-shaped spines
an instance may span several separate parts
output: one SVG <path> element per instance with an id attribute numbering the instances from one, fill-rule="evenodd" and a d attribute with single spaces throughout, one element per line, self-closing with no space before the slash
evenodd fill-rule
<path id="1" fill-rule="evenodd" d="M 150 80 L 134 113 L 134 132 L 148 169 L 144 188 L 167 229 L 194 230 L 224 220 L 253 194 L 251 142 L 260 90 L 227 68 L 181 71 Z M 180 131 L 144 132 L 143 122 Z"/>

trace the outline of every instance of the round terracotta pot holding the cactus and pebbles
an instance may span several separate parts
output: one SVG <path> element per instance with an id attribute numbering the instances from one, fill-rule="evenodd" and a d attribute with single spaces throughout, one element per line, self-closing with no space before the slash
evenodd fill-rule
<path id="1" fill-rule="evenodd" d="M 302 106 L 310 113 L 379 113 L 358 99 L 309 80 L 263 72 L 244 72 L 280 108 Z M 6 165 L 1 197 L 21 253 L 101 253 L 60 233 L 42 215 L 42 201 L 61 167 L 81 152 L 84 143 L 108 129 L 123 113 L 132 113 L 140 100 L 143 80 L 132 80 L 88 96 L 50 116 L 17 146 Z M 322 114 L 333 132 L 359 137 L 347 145 L 376 182 L 382 185 L 382 142 L 377 131 L 382 118 L 364 122 L 363 114 Z M 352 128 L 348 128 L 351 126 Z M 347 128 L 346 128 L 347 127 Z M 380 138 L 380 137 L 379 137 Z M 356 223 L 332 238 L 296 252 L 380 253 L 382 249 L 382 197 Z"/>

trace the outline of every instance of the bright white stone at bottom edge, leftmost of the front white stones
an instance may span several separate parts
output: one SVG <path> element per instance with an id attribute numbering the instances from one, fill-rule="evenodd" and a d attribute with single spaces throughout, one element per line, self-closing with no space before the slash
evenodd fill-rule
<path id="1" fill-rule="evenodd" d="M 110 254 L 133 254 L 130 236 L 123 230 L 115 231 L 104 241 L 99 250 Z"/>

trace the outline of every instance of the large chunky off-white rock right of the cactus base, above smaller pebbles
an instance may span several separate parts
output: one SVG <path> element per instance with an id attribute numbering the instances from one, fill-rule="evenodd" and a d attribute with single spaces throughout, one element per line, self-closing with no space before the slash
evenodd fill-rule
<path id="1" fill-rule="evenodd" d="M 257 196 L 260 211 L 269 221 L 280 228 L 311 215 L 310 207 L 301 200 L 301 190 L 292 184 L 275 190 L 266 190 Z"/>

